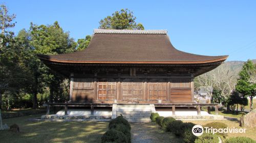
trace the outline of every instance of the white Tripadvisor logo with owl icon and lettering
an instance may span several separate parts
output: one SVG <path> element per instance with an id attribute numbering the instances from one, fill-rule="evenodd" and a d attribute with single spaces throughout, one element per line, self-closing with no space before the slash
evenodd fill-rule
<path id="1" fill-rule="evenodd" d="M 215 133 L 245 133 L 246 129 L 238 129 L 238 128 L 220 128 L 220 129 L 216 129 L 216 128 L 212 128 L 212 127 L 202 127 L 201 125 L 195 125 L 193 128 L 192 128 L 192 133 L 195 135 L 195 136 L 200 136 L 202 135 L 203 133 L 212 133 L 212 134 L 215 134 Z"/>

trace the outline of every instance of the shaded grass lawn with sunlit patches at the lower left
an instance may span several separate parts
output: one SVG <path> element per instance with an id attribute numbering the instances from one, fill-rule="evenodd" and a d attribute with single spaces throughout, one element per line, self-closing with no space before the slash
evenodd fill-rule
<path id="1" fill-rule="evenodd" d="M 101 142 L 109 123 L 105 122 L 31 122 L 41 114 L 8 118 L 3 123 L 16 123 L 20 133 L 0 131 L 0 142 Z"/>

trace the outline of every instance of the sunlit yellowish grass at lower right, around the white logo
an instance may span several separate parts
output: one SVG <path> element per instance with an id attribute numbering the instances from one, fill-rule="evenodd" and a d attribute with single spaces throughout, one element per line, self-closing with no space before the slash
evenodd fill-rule
<path id="1" fill-rule="evenodd" d="M 234 128 L 245 128 L 246 129 L 245 133 L 228 133 L 227 138 L 237 137 L 237 136 L 245 136 L 245 137 L 249 137 L 249 138 L 256 140 L 256 136 L 255 136 L 256 128 L 255 127 L 254 128 L 240 127 L 238 121 L 222 120 L 222 121 L 183 121 L 183 122 L 192 122 L 194 124 L 199 124 L 199 125 L 205 125 L 210 122 L 222 122 L 222 123 L 227 124 L 227 126 L 229 128 L 234 127 Z"/>

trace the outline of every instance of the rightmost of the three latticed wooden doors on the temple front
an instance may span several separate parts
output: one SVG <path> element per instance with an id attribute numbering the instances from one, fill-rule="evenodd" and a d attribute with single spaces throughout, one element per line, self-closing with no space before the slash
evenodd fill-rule
<path id="1" fill-rule="evenodd" d="M 150 101 L 167 100 L 167 83 L 166 82 L 149 82 L 148 96 Z"/>

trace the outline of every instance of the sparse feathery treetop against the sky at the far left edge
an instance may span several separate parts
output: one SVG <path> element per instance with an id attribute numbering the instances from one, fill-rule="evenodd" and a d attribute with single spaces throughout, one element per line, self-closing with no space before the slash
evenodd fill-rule
<path id="1" fill-rule="evenodd" d="M 0 6 L 0 28 L 3 35 L 5 34 L 5 29 L 15 26 L 16 22 L 12 22 L 15 17 L 15 14 L 8 15 L 8 9 L 5 5 Z"/>

